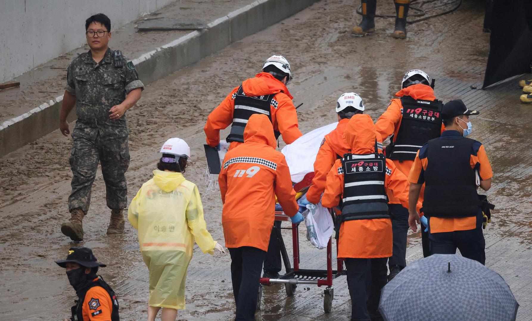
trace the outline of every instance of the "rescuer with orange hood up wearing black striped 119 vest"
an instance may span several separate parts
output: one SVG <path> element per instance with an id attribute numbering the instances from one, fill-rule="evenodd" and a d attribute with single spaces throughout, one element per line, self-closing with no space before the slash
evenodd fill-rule
<path id="1" fill-rule="evenodd" d="M 347 267 L 351 320 L 373 320 L 381 317 L 380 290 L 386 284 L 386 260 L 392 255 L 386 193 L 407 206 L 409 183 L 393 161 L 378 152 L 380 135 L 369 115 L 354 115 L 343 137 L 351 153 L 336 160 L 329 171 L 322 204 L 339 205 L 342 211 L 337 216 L 337 256 L 345 258 Z"/>

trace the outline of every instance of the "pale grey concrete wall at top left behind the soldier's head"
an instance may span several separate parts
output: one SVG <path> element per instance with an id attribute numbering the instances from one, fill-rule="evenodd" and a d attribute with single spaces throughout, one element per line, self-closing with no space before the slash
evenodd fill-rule
<path id="1" fill-rule="evenodd" d="M 0 83 L 84 45 L 92 14 L 109 16 L 113 31 L 174 1 L 1 0 Z"/>

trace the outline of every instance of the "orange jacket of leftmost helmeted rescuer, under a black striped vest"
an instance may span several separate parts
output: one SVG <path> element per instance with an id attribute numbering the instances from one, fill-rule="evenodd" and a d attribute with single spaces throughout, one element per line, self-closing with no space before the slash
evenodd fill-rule
<path id="1" fill-rule="evenodd" d="M 240 86 L 235 87 L 227 97 L 216 107 L 209 117 L 203 130 L 207 136 L 207 144 L 215 147 L 220 143 L 220 130 L 226 129 L 232 124 L 233 112 L 235 111 L 235 94 Z M 297 138 L 302 136 L 297 123 L 297 112 L 292 102 L 292 95 L 286 88 L 285 84 L 277 80 L 269 73 L 259 73 L 255 77 L 245 80 L 242 83 L 242 89 L 247 96 L 262 96 L 275 94 L 277 106 L 270 105 L 271 122 L 273 129 L 279 131 L 282 140 L 287 144 L 292 144 Z M 249 123 L 248 123 L 249 125 Z M 246 127 L 248 126 L 246 125 Z M 274 136 L 275 137 L 275 136 Z M 242 144 L 231 142 L 229 150 Z"/>

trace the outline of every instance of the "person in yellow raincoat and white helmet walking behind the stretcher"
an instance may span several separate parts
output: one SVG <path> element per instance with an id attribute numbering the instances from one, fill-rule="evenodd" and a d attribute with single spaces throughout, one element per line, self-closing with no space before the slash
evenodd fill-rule
<path id="1" fill-rule="evenodd" d="M 207 231 L 200 193 L 182 175 L 190 148 L 180 138 L 170 138 L 161 148 L 162 157 L 154 177 L 132 199 L 128 219 L 138 229 L 140 253 L 149 270 L 148 321 L 174 321 L 185 309 L 185 280 L 194 241 L 203 253 L 225 253 Z"/>

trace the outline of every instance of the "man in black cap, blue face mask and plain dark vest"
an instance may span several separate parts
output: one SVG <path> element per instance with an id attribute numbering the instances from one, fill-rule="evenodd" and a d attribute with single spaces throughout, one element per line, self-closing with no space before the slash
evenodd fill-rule
<path id="1" fill-rule="evenodd" d="M 493 172 L 484 145 L 465 137 L 472 128 L 469 116 L 478 114 L 460 99 L 443 107 L 445 132 L 423 145 L 409 175 L 409 225 L 417 230 L 415 204 L 425 183 L 421 210 L 428 219 L 430 253 L 455 254 L 458 248 L 462 256 L 484 264 L 485 203 L 477 189 L 491 187 Z"/>

